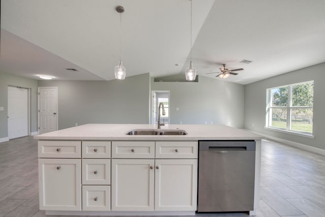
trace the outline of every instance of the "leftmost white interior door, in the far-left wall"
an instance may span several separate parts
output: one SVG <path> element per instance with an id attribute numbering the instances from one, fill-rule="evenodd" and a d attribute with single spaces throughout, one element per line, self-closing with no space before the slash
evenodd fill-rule
<path id="1" fill-rule="evenodd" d="M 28 90 L 8 87 L 8 137 L 28 135 Z"/>

